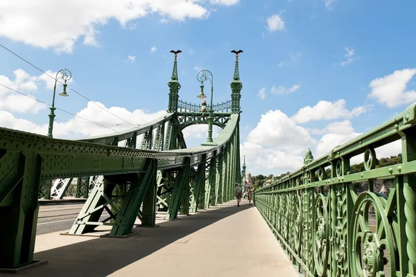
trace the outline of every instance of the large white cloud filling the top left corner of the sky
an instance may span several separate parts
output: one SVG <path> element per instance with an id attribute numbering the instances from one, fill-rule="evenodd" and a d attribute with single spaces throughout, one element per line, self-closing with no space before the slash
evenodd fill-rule
<path id="1" fill-rule="evenodd" d="M 167 19 L 205 19 L 209 10 L 204 2 L 189 0 L 48 0 L 0 1 L 0 36 L 15 42 L 24 42 L 42 48 L 55 48 L 71 53 L 75 42 L 83 37 L 84 44 L 98 46 L 96 34 L 99 26 L 110 19 L 121 27 L 130 28 L 131 21 L 157 13 Z M 236 0 L 215 0 L 213 4 L 231 6 Z M 62 19 L 62 14 L 64 18 Z"/>

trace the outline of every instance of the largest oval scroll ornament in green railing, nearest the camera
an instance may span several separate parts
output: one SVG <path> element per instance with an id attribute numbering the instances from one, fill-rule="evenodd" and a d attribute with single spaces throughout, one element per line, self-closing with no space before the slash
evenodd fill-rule
<path id="1" fill-rule="evenodd" d="M 390 271 L 396 270 L 394 236 L 384 205 L 385 199 L 371 192 L 361 193 L 356 200 L 352 211 L 352 224 L 349 226 L 349 267 L 352 277 L 384 276 L 384 265 L 388 262 Z M 370 229 L 370 206 L 375 213 L 374 232 Z"/>

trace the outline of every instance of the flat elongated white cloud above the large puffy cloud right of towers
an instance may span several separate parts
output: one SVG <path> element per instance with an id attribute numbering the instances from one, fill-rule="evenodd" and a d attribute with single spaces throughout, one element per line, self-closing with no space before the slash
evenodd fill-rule
<path id="1" fill-rule="evenodd" d="M 359 106 L 349 111 L 345 107 L 345 100 L 340 99 L 336 102 L 329 102 L 320 100 L 315 106 L 303 107 L 297 113 L 292 116 L 292 119 L 297 123 L 306 123 L 311 120 L 331 120 L 337 118 L 353 118 L 360 114 L 369 111 L 371 106 Z"/>

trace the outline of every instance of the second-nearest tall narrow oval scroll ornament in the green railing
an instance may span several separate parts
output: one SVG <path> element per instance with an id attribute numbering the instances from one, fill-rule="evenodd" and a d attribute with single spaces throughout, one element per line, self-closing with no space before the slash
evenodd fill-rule
<path id="1" fill-rule="evenodd" d="M 329 226 L 327 200 L 322 193 L 313 204 L 313 258 L 318 276 L 327 275 L 329 257 Z"/>

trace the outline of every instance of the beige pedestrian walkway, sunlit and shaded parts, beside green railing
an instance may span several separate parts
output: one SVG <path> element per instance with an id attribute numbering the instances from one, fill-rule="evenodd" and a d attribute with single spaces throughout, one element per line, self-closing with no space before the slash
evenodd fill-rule
<path id="1" fill-rule="evenodd" d="M 38 235 L 23 276 L 298 276 L 259 211 L 236 200 L 126 238 Z"/>

